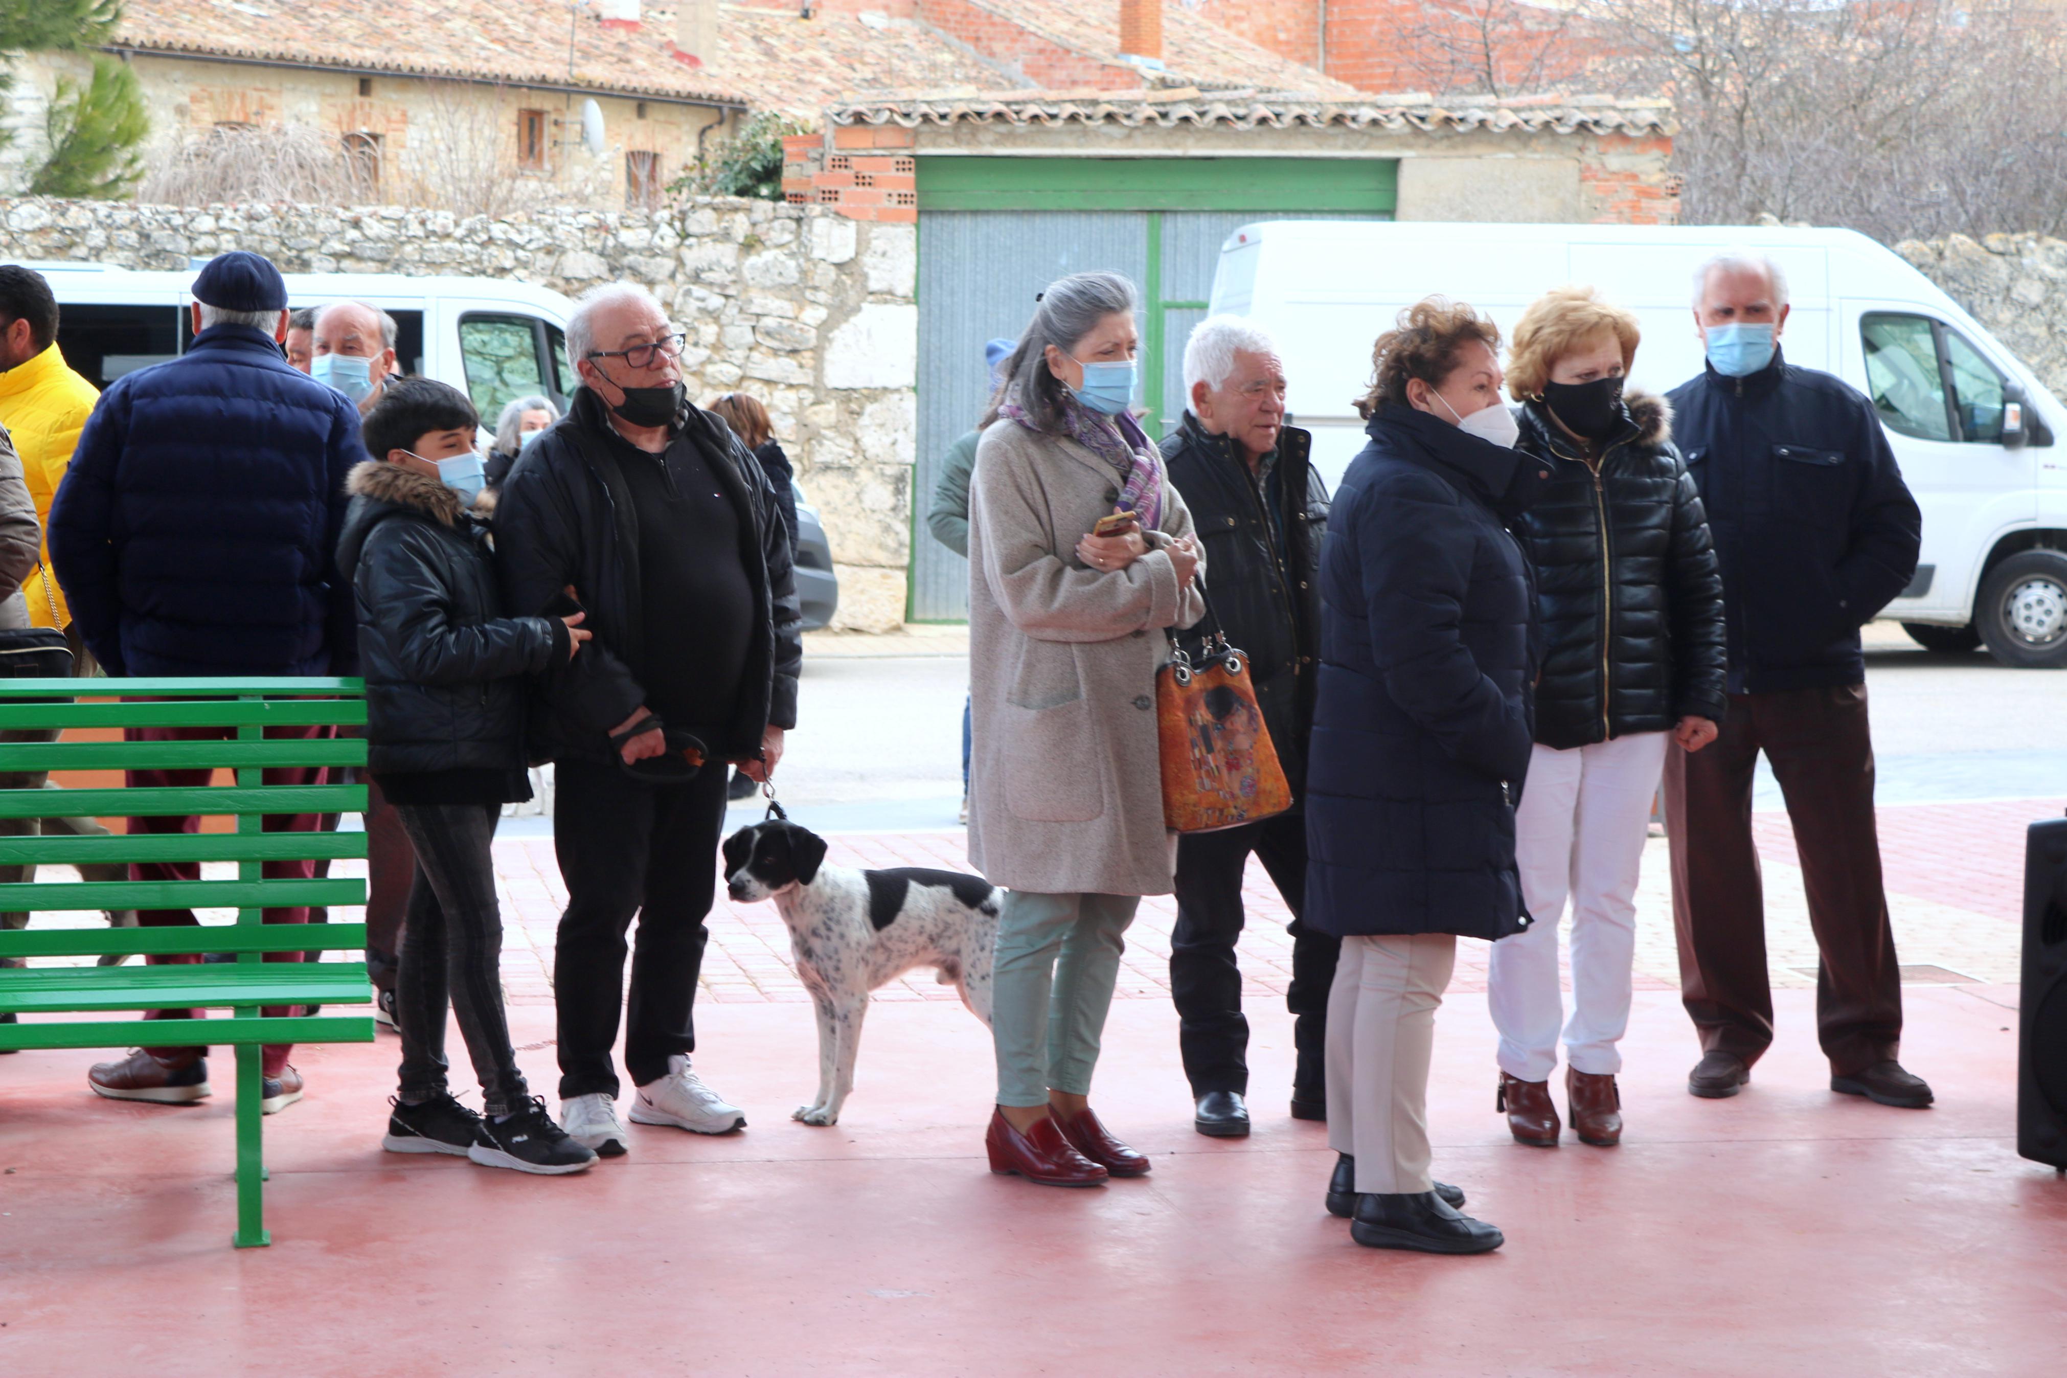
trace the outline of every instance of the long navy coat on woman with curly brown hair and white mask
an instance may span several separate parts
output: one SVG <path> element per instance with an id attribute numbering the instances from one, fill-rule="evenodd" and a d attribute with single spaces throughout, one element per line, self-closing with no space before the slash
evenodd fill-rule
<path id="1" fill-rule="evenodd" d="M 1304 921 L 1505 938 L 1530 923 L 1515 802 L 1536 657 L 1501 523 L 1534 471 L 1426 411 L 1387 405 L 1364 430 L 1321 552 Z"/>

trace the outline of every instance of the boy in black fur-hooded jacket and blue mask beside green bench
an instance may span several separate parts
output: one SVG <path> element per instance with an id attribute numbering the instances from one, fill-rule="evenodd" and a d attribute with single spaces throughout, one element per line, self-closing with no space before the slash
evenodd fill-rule
<path id="1" fill-rule="evenodd" d="M 488 1167 L 566 1173 L 595 1161 L 525 1087 L 502 1014 L 502 917 L 490 843 L 502 804 L 531 797 L 523 676 L 568 661 L 570 618 L 504 618 L 473 405 L 430 378 L 395 378 L 366 413 L 337 566 L 351 581 L 366 674 L 368 769 L 415 845 L 395 1025 L 401 1091 L 391 1153 L 453 1153 Z M 446 998 L 482 1078 L 486 1114 L 444 1085 Z"/>

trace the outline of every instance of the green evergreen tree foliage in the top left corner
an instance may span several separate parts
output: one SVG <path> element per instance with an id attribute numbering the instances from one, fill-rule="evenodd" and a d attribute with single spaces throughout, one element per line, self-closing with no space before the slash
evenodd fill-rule
<path id="1" fill-rule="evenodd" d="M 122 0 L 0 0 L 0 54 L 81 52 L 105 41 L 122 19 Z M 14 74 L 0 66 L 0 99 Z M 136 149 L 151 132 L 136 74 L 93 54 L 85 83 L 58 79 L 45 120 L 50 155 L 29 190 L 50 196 L 122 196 L 143 176 Z M 12 138 L 0 130 L 0 145 Z"/>

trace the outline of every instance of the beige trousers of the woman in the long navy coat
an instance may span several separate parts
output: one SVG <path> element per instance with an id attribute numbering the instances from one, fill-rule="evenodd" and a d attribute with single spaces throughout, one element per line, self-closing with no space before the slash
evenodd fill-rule
<path id="1" fill-rule="evenodd" d="M 1428 1058 L 1455 934 L 1344 938 L 1327 992 L 1327 1147 L 1356 1157 L 1356 1190 L 1432 1190 Z"/>

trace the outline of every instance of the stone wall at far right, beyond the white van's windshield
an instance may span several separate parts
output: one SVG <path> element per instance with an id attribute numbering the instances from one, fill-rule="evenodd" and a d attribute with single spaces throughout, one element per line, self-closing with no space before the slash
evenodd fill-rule
<path id="1" fill-rule="evenodd" d="M 1904 240 L 1895 252 L 2067 399 L 2067 240 L 1991 233 Z"/>

